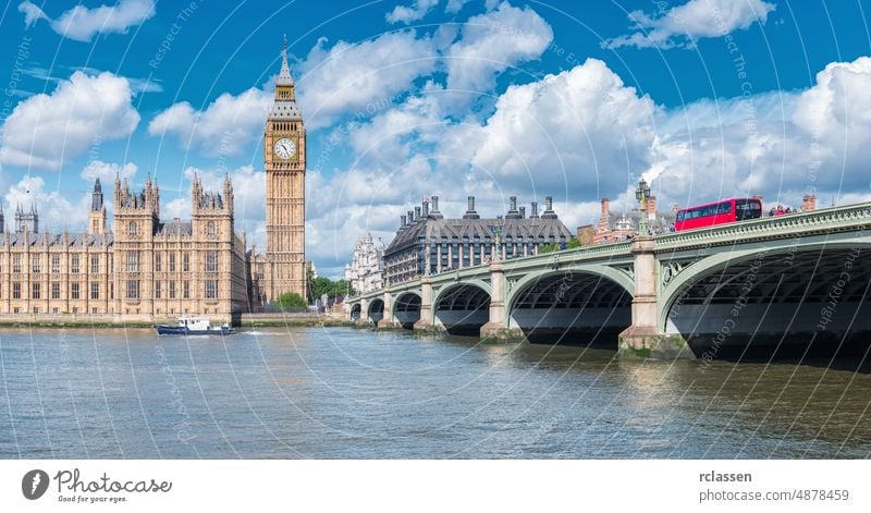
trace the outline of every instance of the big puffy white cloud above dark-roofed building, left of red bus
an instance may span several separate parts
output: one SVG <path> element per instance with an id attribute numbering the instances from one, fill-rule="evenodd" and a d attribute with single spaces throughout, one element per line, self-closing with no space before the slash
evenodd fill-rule
<path id="1" fill-rule="evenodd" d="M 604 187 L 643 170 L 653 143 L 653 101 L 604 62 L 510 87 L 482 130 L 473 163 L 539 185 Z"/>

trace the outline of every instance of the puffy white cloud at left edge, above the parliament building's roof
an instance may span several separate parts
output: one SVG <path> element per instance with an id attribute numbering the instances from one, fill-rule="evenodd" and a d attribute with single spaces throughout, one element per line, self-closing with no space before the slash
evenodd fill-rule
<path id="1" fill-rule="evenodd" d="M 50 95 L 35 95 L 15 106 L 2 126 L 0 162 L 59 170 L 89 146 L 127 137 L 139 123 L 132 98 L 123 76 L 77 71 Z"/>

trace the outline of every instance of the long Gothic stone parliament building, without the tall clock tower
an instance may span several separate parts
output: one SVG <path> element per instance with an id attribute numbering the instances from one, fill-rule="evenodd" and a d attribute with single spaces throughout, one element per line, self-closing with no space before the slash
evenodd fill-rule
<path id="1" fill-rule="evenodd" d="M 138 193 L 118 176 L 114 185 L 111 232 L 99 180 L 84 233 L 39 233 L 35 207 L 16 212 L 15 231 L 4 230 L 0 245 L 0 313 L 231 320 L 247 309 L 245 242 L 233 233 L 229 179 L 222 194 L 195 179 L 184 222 L 160 220 L 150 178 Z"/>

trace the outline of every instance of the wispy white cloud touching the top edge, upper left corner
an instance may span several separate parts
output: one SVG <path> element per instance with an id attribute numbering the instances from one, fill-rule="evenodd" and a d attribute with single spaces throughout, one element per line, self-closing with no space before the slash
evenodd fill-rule
<path id="1" fill-rule="evenodd" d="M 51 29 L 61 36 L 89 41 L 96 34 L 125 34 L 130 27 L 140 25 L 155 15 L 155 2 L 120 0 L 115 5 L 94 9 L 78 4 L 52 20 L 28 0 L 19 4 L 19 12 L 24 13 L 24 23 L 28 27 L 38 20 L 46 20 Z"/>

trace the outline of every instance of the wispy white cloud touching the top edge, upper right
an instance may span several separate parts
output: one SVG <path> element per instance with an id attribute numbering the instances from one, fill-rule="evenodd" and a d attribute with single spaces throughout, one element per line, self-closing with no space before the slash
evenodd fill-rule
<path id="1" fill-rule="evenodd" d="M 635 32 L 608 39 L 603 46 L 662 49 L 691 46 L 701 38 L 746 30 L 757 21 L 764 24 L 774 9 L 773 3 L 764 0 L 690 0 L 653 16 L 633 11 L 629 20 L 635 23 Z"/>

